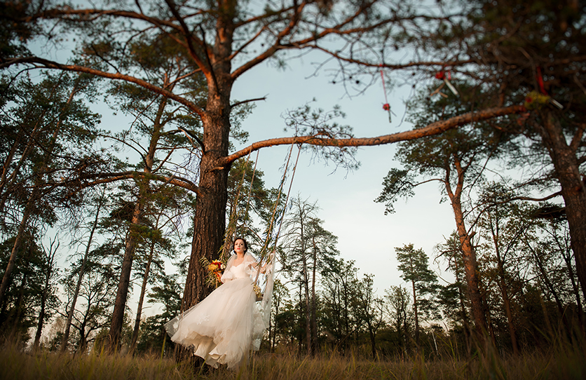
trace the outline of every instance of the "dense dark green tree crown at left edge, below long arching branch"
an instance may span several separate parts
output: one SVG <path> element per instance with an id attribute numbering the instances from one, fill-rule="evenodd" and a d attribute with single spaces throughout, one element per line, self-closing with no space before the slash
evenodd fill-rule
<path id="1" fill-rule="evenodd" d="M 0 225 L 10 228 L 14 219 L 6 216 L 24 213 L 29 201 L 32 219 L 54 224 L 55 210 L 75 208 L 81 194 L 71 189 L 79 182 L 52 185 L 107 165 L 91 149 L 100 116 L 90 111 L 83 95 L 93 83 L 83 74 L 62 73 L 44 74 L 38 81 L 3 76 L 0 86 L 0 147 L 6 152 Z"/>

